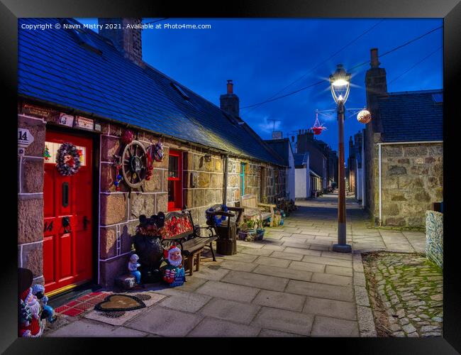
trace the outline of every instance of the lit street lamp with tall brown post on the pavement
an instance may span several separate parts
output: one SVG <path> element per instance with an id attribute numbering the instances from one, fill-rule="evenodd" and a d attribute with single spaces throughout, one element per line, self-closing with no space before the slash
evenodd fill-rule
<path id="1" fill-rule="evenodd" d="M 346 244 L 345 224 L 345 167 L 344 167 L 344 104 L 349 96 L 350 73 L 342 64 L 338 64 L 335 72 L 330 75 L 330 88 L 333 99 L 338 105 L 339 161 L 338 161 L 338 244 L 333 244 L 333 251 L 350 253 L 352 248 Z"/>

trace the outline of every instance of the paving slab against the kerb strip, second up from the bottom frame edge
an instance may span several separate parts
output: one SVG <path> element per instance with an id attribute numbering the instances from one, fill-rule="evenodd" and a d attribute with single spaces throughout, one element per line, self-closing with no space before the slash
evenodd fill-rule
<path id="1" fill-rule="evenodd" d="M 306 297 L 303 312 L 346 320 L 357 319 L 354 302 L 328 300 L 326 298 Z"/>

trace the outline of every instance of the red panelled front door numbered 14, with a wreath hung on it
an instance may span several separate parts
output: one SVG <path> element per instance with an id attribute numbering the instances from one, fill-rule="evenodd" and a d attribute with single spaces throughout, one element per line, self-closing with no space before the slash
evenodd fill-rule
<path id="1" fill-rule="evenodd" d="M 65 142 L 77 146 L 80 153 L 80 168 L 72 176 L 60 175 L 56 168 L 57 149 Z M 47 131 L 45 146 L 51 156 L 45 160 L 43 186 L 43 276 L 45 290 L 51 293 L 92 278 L 93 141 Z"/>

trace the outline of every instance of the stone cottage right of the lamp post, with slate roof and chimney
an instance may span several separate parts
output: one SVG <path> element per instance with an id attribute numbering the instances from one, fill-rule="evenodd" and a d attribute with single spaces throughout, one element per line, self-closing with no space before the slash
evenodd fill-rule
<path id="1" fill-rule="evenodd" d="M 443 201 L 443 91 L 387 92 L 377 48 L 370 63 L 365 207 L 376 225 L 424 226 L 426 210 Z"/>

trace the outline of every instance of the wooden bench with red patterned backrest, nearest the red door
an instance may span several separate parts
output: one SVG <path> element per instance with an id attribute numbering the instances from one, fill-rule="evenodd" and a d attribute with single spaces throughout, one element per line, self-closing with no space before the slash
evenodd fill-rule
<path id="1" fill-rule="evenodd" d="M 200 229 L 206 229 L 209 236 L 200 236 Z M 195 226 L 190 211 L 184 209 L 182 212 L 168 212 L 165 214 L 165 225 L 160 229 L 162 245 L 169 248 L 172 244 L 177 244 L 182 251 L 184 268 L 189 268 L 189 275 L 194 273 L 194 258 L 196 259 L 196 271 L 200 270 L 200 255 L 204 247 L 211 249 L 213 261 L 216 256 L 213 251 L 213 241 L 218 239 L 213 226 Z"/>

